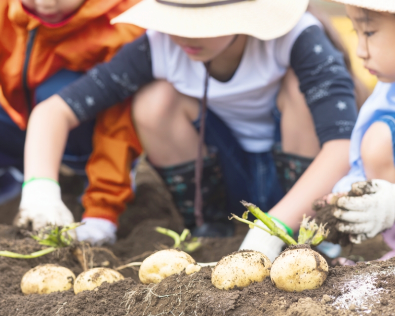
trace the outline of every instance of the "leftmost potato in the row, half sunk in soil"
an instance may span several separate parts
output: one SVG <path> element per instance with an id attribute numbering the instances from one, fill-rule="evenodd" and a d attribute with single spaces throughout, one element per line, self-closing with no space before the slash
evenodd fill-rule
<path id="1" fill-rule="evenodd" d="M 72 288 L 76 276 L 65 267 L 53 264 L 30 269 L 21 280 L 23 294 L 48 294 Z"/>

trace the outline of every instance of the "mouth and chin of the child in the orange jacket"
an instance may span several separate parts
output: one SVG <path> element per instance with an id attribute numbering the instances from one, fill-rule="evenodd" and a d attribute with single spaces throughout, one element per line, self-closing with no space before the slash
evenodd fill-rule
<path id="1" fill-rule="evenodd" d="M 21 0 L 40 19 L 59 23 L 79 8 L 85 0 Z"/>

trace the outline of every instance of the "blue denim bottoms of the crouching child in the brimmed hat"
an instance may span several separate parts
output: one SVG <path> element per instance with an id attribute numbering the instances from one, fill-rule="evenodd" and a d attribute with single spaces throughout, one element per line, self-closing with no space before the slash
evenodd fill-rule
<path id="1" fill-rule="evenodd" d="M 194 122 L 199 128 L 199 121 Z M 245 211 L 241 200 L 269 211 L 284 196 L 271 152 L 248 153 L 238 143 L 230 128 L 210 110 L 206 113 L 204 142 L 216 147 L 224 174 L 229 213 Z"/>

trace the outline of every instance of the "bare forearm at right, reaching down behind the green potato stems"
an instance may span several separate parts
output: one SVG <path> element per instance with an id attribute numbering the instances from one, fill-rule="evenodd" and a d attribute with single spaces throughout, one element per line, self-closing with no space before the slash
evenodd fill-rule
<path id="1" fill-rule="evenodd" d="M 269 213 L 297 230 L 303 214 L 313 215 L 313 201 L 330 193 L 337 181 L 347 174 L 349 146 L 348 139 L 326 142 L 293 188 Z"/>

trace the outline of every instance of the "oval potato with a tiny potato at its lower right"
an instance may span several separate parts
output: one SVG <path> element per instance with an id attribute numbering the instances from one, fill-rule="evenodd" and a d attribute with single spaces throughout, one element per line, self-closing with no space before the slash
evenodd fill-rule
<path id="1" fill-rule="evenodd" d="M 180 273 L 191 263 L 195 263 L 194 258 L 184 251 L 160 250 L 142 262 L 139 278 L 144 284 L 159 283 L 167 276 Z"/>

